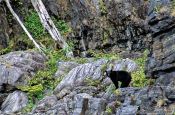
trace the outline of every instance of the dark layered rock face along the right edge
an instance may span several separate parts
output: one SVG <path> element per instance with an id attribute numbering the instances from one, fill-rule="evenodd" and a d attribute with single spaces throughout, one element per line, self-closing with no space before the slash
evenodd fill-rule
<path id="1" fill-rule="evenodd" d="M 155 12 L 154 9 L 158 5 L 160 10 Z M 146 65 L 146 73 L 148 77 L 159 77 L 164 82 L 163 84 L 167 85 L 174 79 L 175 18 L 170 9 L 169 0 L 152 1 L 151 6 L 148 24 L 152 32 L 153 43 Z"/>

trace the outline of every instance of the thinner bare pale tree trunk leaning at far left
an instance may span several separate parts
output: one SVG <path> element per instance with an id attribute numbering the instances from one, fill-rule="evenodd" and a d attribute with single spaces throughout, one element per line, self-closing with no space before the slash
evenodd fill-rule
<path id="1" fill-rule="evenodd" d="M 22 29 L 25 31 L 25 33 L 28 35 L 29 39 L 32 40 L 32 42 L 34 43 L 35 47 L 42 52 L 40 46 L 36 43 L 36 41 L 33 39 L 33 37 L 31 36 L 31 34 L 28 32 L 28 30 L 26 29 L 26 27 L 24 26 L 24 24 L 22 23 L 22 21 L 19 19 L 18 15 L 14 12 L 13 8 L 10 5 L 9 0 L 5 0 L 6 5 L 8 7 L 8 9 L 10 10 L 10 12 L 12 13 L 12 15 L 16 18 L 16 20 L 18 21 L 18 23 L 20 24 L 20 26 L 22 27 Z M 42 52 L 43 53 L 43 52 Z"/>

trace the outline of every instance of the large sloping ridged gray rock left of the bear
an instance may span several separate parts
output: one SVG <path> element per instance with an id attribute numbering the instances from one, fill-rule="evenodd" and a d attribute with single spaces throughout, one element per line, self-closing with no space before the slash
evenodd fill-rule
<path id="1" fill-rule="evenodd" d="M 62 89 L 66 87 L 73 88 L 75 86 L 82 85 L 85 78 L 88 77 L 90 77 L 92 80 L 102 79 L 100 67 L 106 62 L 106 60 L 98 60 L 96 62 L 82 64 L 72 69 L 58 84 L 55 89 L 55 94 L 59 93 Z"/>

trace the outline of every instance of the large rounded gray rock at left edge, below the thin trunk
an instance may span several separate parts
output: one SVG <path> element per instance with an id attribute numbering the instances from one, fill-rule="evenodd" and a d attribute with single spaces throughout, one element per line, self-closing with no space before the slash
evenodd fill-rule
<path id="1" fill-rule="evenodd" d="M 11 52 L 0 56 L 0 91 L 9 86 L 25 85 L 34 73 L 44 69 L 46 58 L 37 52 Z"/>

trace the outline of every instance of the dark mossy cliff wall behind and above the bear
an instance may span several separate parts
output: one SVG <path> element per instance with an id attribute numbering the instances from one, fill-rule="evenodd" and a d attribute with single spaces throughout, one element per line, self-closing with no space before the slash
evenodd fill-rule
<path id="1" fill-rule="evenodd" d="M 25 7 L 30 1 L 21 0 Z M 143 51 L 147 46 L 144 0 L 43 0 L 51 15 L 64 19 L 73 32 L 75 54 L 88 49 Z"/>

